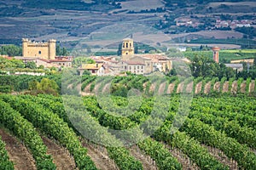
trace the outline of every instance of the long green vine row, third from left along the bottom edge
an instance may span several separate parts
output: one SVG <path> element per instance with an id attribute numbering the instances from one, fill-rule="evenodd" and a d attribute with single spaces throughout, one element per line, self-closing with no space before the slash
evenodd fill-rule
<path id="1" fill-rule="evenodd" d="M 71 128 L 59 116 L 44 110 L 42 105 L 34 105 L 29 99 L 2 96 L 16 111 L 25 116 L 35 127 L 53 136 L 73 155 L 79 169 L 96 169 L 93 161 L 86 156 L 87 150 L 80 144 L 79 139 Z"/>

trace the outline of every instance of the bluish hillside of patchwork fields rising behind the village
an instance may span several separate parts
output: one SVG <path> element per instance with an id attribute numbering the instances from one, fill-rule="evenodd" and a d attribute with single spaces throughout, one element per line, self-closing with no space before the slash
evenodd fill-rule
<path id="1" fill-rule="evenodd" d="M 172 2 L 172 3 L 171 3 Z M 249 38 L 230 48 L 253 48 L 255 29 L 219 28 L 216 20 L 249 20 L 255 24 L 254 1 L 154 1 L 145 0 L 57 0 L 0 1 L 0 44 L 20 44 L 22 37 L 35 40 L 55 38 L 74 44 L 90 33 L 114 24 L 136 23 L 165 32 L 174 42 L 197 38 Z M 177 20 L 192 20 L 195 26 L 176 26 Z M 198 25 L 198 26 L 197 26 Z M 227 30 L 228 29 L 228 30 Z M 205 32 L 204 32 L 205 31 Z M 220 36 L 218 31 L 225 31 Z M 108 33 L 108 32 L 106 32 Z M 127 35 L 123 35 L 125 37 Z M 150 36 L 150 35 L 148 35 Z M 152 35 L 154 36 L 154 35 Z M 156 43 L 156 41 L 155 41 Z M 202 40 L 201 43 L 204 43 Z M 227 42 L 223 42 L 227 43 Z M 193 43 L 192 43 L 193 44 Z M 189 44 L 190 45 L 190 44 Z"/>

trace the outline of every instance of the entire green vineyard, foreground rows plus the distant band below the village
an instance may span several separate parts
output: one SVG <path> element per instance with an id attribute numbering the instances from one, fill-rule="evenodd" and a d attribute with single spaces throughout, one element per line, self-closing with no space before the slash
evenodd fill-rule
<path id="1" fill-rule="evenodd" d="M 66 94 L 61 97 L 0 94 L 0 169 L 256 167 L 256 99 L 251 79 L 75 78 L 62 83 L 68 87 L 72 83 L 85 96 L 64 85 Z M 127 98 L 132 88 L 143 92 L 143 97 Z M 108 89 L 110 98 L 87 95 Z M 166 95 L 160 98 L 153 92 Z M 207 95 L 214 92 L 226 95 Z M 201 95 L 195 95 L 189 105 L 182 101 L 182 93 Z M 162 116 L 163 122 L 158 123 Z M 177 125 L 180 128 L 172 133 Z M 122 146 L 124 141 L 131 144 Z"/>

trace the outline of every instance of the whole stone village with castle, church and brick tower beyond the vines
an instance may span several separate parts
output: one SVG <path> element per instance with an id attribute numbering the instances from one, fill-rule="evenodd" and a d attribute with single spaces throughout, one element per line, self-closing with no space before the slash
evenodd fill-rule
<path id="1" fill-rule="evenodd" d="M 183 51 L 182 48 L 177 50 Z M 219 62 L 218 47 L 212 48 L 212 59 Z M 56 56 L 56 40 L 50 39 L 48 42 L 32 42 L 27 38 L 22 39 L 22 56 L 9 57 L 2 55 L 6 59 L 19 59 L 25 64 L 34 62 L 37 67 L 56 68 L 61 71 L 62 68 L 72 68 L 74 56 Z M 155 54 L 135 54 L 134 42 L 132 38 L 122 40 L 121 55 L 113 56 L 88 56 L 93 63 L 83 63 L 79 65 L 78 71 L 82 76 L 84 71 L 95 76 L 125 76 L 127 72 L 135 75 L 148 75 L 154 71 L 163 73 L 169 72 L 173 68 L 173 60 L 176 58 L 168 57 L 165 53 Z M 183 57 L 183 62 L 190 63 L 189 59 Z M 253 63 L 253 59 L 247 59 L 246 62 Z M 233 60 L 230 64 L 225 64 L 236 71 L 242 71 L 243 65 L 239 60 Z M 15 74 L 30 74 L 35 76 L 44 75 L 44 73 L 15 72 Z"/>

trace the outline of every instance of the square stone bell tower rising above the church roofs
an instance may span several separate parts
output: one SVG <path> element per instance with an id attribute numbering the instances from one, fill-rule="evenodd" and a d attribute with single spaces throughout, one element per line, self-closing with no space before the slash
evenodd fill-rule
<path id="1" fill-rule="evenodd" d="M 122 59 L 128 60 L 134 56 L 133 40 L 131 38 L 123 39 L 122 44 Z"/>

